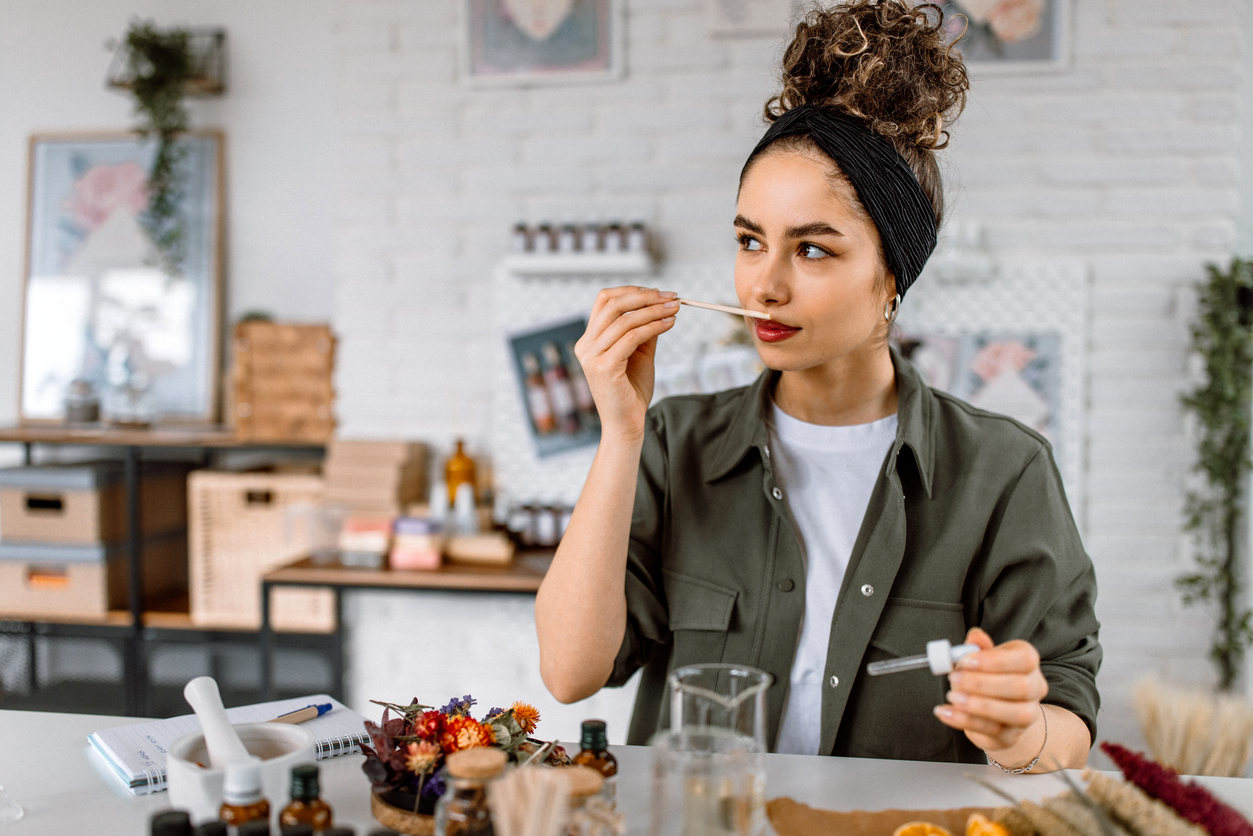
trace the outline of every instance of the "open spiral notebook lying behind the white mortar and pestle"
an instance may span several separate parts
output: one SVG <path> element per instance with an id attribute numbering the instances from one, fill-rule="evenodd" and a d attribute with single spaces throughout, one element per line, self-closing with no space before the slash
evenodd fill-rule
<path id="1" fill-rule="evenodd" d="M 360 752 L 361 743 L 370 742 L 365 729 L 366 718 L 326 694 L 227 708 L 227 717 L 232 723 L 264 723 L 279 714 L 327 702 L 331 703 L 331 711 L 301 723 L 301 728 L 313 733 L 315 757 L 321 761 Z M 195 714 L 185 714 L 105 728 L 89 734 L 88 742 L 133 795 L 144 796 L 167 788 L 165 751 L 170 743 L 198 731 L 200 723 Z"/>

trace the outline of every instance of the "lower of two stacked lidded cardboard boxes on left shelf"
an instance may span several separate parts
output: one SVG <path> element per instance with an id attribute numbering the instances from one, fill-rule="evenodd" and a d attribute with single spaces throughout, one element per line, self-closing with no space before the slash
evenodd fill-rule
<path id="1" fill-rule="evenodd" d="M 143 545 L 144 607 L 187 592 L 187 539 Z M 0 615 L 103 617 L 130 605 L 125 545 L 0 543 Z"/>

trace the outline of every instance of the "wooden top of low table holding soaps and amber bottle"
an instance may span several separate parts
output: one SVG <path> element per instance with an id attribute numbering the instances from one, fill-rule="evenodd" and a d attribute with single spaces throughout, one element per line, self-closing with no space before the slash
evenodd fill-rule
<path id="1" fill-rule="evenodd" d="M 460 589 L 466 592 L 535 592 L 553 560 L 553 551 L 526 551 L 507 567 L 445 563 L 427 572 L 315 565 L 308 558 L 276 569 L 263 580 L 282 584 L 327 584 L 375 589 Z"/>

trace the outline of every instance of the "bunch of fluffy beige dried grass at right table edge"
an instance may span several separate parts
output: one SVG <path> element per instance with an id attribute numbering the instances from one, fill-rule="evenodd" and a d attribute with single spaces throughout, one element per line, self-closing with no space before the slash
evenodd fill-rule
<path id="1" fill-rule="evenodd" d="M 1180 775 L 1244 775 L 1253 737 L 1253 708 L 1244 699 L 1149 678 L 1135 687 L 1135 713 L 1159 763 Z"/>

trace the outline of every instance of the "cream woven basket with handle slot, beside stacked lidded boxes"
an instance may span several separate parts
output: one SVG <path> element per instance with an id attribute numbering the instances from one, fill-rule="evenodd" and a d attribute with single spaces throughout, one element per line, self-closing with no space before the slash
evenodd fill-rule
<path id="1" fill-rule="evenodd" d="M 302 529 L 288 531 L 287 506 L 321 498 L 321 476 L 193 473 L 188 479 L 192 623 L 258 629 L 261 577 L 308 551 Z M 335 593 L 274 589 L 269 622 L 282 632 L 333 632 Z"/>

